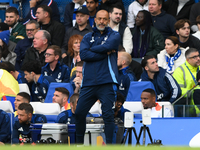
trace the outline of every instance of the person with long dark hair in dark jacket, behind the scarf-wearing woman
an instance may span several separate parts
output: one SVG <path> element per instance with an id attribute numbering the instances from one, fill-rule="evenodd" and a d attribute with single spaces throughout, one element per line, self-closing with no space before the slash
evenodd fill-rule
<path id="1" fill-rule="evenodd" d="M 146 10 L 138 12 L 136 26 L 131 29 L 133 35 L 133 58 L 142 58 L 146 55 L 157 54 L 164 49 L 164 38 L 160 32 L 152 26 L 151 14 Z"/>

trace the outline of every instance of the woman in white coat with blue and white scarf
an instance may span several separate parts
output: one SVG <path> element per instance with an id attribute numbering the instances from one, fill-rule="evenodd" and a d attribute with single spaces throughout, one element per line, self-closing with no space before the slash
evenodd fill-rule
<path id="1" fill-rule="evenodd" d="M 165 49 L 157 56 L 158 66 L 173 74 L 174 70 L 185 62 L 185 52 L 188 48 L 179 47 L 178 38 L 169 36 L 165 40 Z"/>

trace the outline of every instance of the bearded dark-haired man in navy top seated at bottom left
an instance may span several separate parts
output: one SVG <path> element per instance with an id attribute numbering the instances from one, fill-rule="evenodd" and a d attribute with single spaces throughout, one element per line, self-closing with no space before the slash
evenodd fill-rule
<path id="1" fill-rule="evenodd" d="M 13 125 L 12 143 L 30 143 L 30 122 L 33 116 L 33 107 L 28 103 L 21 103 L 17 110 L 18 120 Z"/>

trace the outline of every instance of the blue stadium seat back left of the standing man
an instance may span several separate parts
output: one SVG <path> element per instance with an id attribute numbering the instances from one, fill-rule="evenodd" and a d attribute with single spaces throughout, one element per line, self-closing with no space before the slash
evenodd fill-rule
<path id="1" fill-rule="evenodd" d="M 44 100 L 44 103 L 52 103 L 52 98 L 53 98 L 53 94 L 55 92 L 55 88 L 57 87 L 64 87 L 69 91 L 69 98 L 72 96 L 72 94 L 74 93 L 73 87 L 70 83 L 58 83 L 58 82 L 52 82 L 49 85 L 49 89 L 47 92 L 47 96 Z M 68 99 L 69 102 L 69 99 Z"/>

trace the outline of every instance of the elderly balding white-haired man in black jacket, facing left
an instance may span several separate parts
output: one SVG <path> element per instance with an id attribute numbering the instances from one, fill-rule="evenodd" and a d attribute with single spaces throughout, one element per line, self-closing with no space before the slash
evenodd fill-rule
<path id="1" fill-rule="evenodd" d="M 35 33 L 33 45 L 27 49 L 23 64 L 31 60 L 40 61 L 41 65 L 45 65 L 45 52 L 51 41 L 51 35 L 46 30 L 39 30 Z"/>

